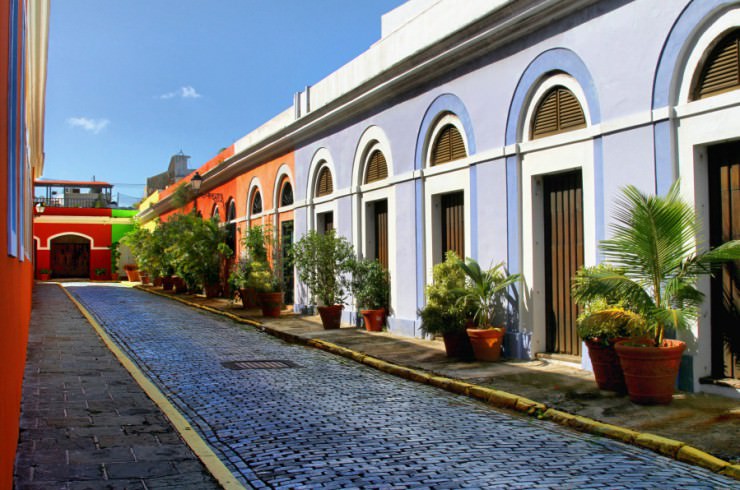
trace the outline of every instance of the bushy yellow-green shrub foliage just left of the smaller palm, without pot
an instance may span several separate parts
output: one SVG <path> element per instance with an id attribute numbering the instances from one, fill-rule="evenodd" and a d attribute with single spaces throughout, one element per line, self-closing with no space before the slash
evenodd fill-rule
<path id="1" fill-rule="evenodd" d="M 444 262 L 434 266 L 432 284 L 426 287 L 426 305 L 417 311 L 425 335 L 441 335 L 465 329 L 474 312 L 460 301 L 465 291 L 465 273 L 460 258 L 447 252 Z"/>

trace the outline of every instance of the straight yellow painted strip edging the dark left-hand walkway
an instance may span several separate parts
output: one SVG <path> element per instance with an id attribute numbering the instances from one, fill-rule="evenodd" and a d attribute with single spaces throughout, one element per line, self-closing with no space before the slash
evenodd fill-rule
<path id="1" fill-rule="evenodd" d="M 228 468 L 226 468 L 226 466 L 218 458 L 218 456 L 216 456 L 208 443 L 202 437 L 200 437 L 198 432 L 193 429 L 193 427 L 185 419 L 185 417 L 183 417 L 180 411 L 175 408 L 175 406 L 167 399 L 166 396 L 164 396 L 157 385 L 152 383 L 147 375 L 139 369 L 136 363 L 132 361 L 131 358 L 129 358 L 118 347 L 118 345 L 113 341 L 113 339 L 110 338 L 105 329 L 97 322 L 97 320 L 95 320 L 90 312 L 87 311 L 87 309 L 82 306 L 82 304 L 77 301 L 64 286 L 62 286 L 61 284 L 58 285 L 62 289 L 62 291 L 64 291 L 70 301 L 72 301 L 72 303 L 77 307 L 77 309 L 80 310 L 82 315 L 87 319 L 93 329 L 95 329 L 95 332 L 98 334 L 108 350 L 110 350 L 113 355 L 116 356 L 118 362 L 120 362 L 123 367 L 126 368 L 129 374 L 131 374 L 131 377 L 136 380 L 136 382 L 144 390 L 147 396 L 159 407 L 160 410 L 162 410 L 162 412 L 170 420 L 170 422 L 172 422 L 175 430 L 177 430 L 177 432 L 180 434 L 183 440 L 185 440 L 187 445 L 190 446 L 190 449 L 193 450 L 195 455 L 198 456 L 198 459 L 200 459 L 205 467 L 208 468 L 208 471 L 211 473 L 211 475 L 213 475 L 213 477 L 218 480 L 219 484 L 227 490 L 245 489 L 246 487 L 244 487 L 244 485 L 242 485 L 236 478 L 234 478 L 234 475 L 231 473 L 231 471 L 229 471 Z"/>

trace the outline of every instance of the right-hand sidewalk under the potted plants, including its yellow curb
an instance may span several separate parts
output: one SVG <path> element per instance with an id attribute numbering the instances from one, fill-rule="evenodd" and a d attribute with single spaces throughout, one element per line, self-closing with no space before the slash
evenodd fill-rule
<path id="1" fill-rule="evenodd" d="M 501 395 L 493 396 L 498 397 L 498 401 L 491 401 L 486 394 L 476 397 L 488 396 L 486 401 L 498 406 L 509 406 L 509 401 L 518 399 L 521 403 L 514 406 L 511 402 L 511 408 L 648 447 L 715 471 L 724 467 L 723 473 L 740 479 L 740 401 L 736 399 L 679 392 L 670 405 L 640 406 L 626 396 L 600 391 L 592 373 L 562 363 L 547 360 L 459 362 L 445 356 L 441 341 L 399 337 L 385 332 L 369 333 L 358 328 L 323 330 L 317 316 L 286 314 L 280 319 L 269 319 L 262 317 L 258 310 L 244 310 L 240 304 L 225 299 L 175 296 L 160 288 L 141 288 L 213 309 L 251 322 L 286 340 L 332 350 L 404 377 L 414 379 L 419 375 L 411 370 L 402 372 L 399 366 L 464 382 L 453 385 L 441 378 L 430 381 L 433 376 L 428 374 L 420 379 L 452 391 L 474 391 L 470 385 L 500 390 Z M 391 364 L 382 365 L 377 359 Z M 616 430 L 609 426 L 602 428 L 604 424 L 593 421 L 611 424 Z M 725 461 L 732 466 L 728 467 Z"/>

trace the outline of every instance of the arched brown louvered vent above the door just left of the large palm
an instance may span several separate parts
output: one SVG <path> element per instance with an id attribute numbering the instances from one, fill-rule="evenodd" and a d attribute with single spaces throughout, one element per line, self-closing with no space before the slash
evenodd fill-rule
<path id="1" fill-rule="evenodd" d="M 586 127 L 586 116 L 573 92 L 565 87 L 550 89 L 542 98 L 532 122 L 532 139 Z"/>

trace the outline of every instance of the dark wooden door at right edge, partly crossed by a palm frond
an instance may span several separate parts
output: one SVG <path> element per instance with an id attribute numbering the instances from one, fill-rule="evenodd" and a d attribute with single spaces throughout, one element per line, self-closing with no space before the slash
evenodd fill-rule
<path id="1" fill-rule="evenodd" d="M 709 243 L 740 239 L 740 142 L 710 147 Z M 740 379 L 740 261 L 711 282 L 712 375 Z"/>

